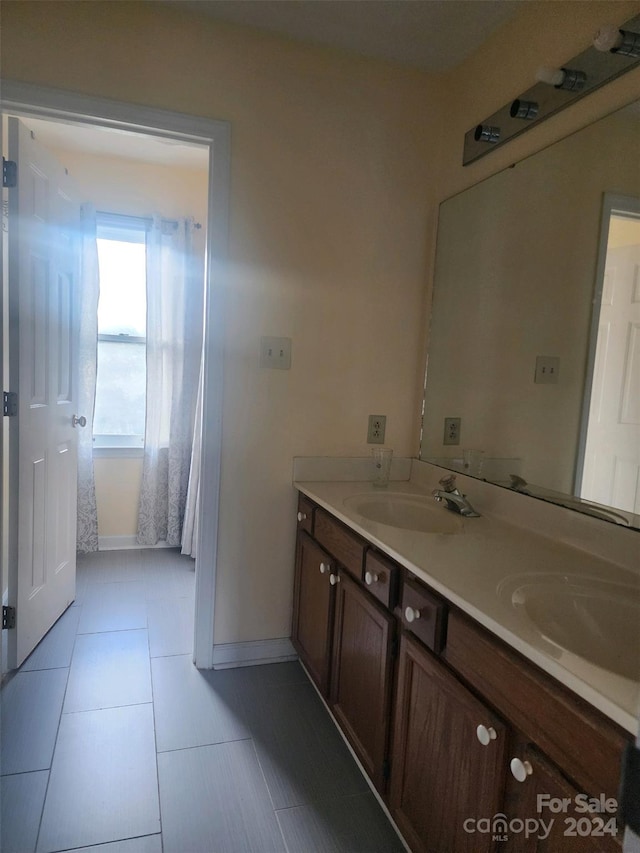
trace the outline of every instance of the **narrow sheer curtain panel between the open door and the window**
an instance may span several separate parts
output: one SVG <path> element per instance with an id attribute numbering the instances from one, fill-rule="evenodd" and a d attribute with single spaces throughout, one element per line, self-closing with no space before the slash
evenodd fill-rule
<path id="1" fill-rule="evenodd" d="M 96 242 L 96 213 L 89 204 L 81 210 L 81 274 L 79 317 L 78 414 L 87 425 L 78 434 L 78 525 L 76 550 L 98 550 L 98 511 L 93 473 L 93 413 L 98 360 L 98 298 L 100 275 Z"/>

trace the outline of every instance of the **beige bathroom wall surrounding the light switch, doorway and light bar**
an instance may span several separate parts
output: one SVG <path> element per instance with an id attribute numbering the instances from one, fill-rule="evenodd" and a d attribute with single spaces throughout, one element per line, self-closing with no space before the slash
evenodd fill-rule
<path id="1" fill-rule="evenodd" d="M 289 634 L 292 456 L 365 453 L 371 412 L 417 451 L 437 200 L 631 100 L 640 73 L 466 170 L 464 132 L 635 11 L 523 4 L 515 38 L 437 78 L 153 3 L 3 3 L 6 77 L 231 122 L 216 642 Z M 258 368 L 265 334 L 293 338 L 291 371 Z"/>

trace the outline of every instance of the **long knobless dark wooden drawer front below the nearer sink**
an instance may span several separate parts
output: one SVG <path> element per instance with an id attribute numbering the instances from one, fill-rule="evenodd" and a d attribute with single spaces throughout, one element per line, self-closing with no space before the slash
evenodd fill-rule
<path id="1" fill-rule="evenodd" d="M 630 736 L 468 617 L 452 611 L 445 657 L 588 794 L 616 797 Z"/>

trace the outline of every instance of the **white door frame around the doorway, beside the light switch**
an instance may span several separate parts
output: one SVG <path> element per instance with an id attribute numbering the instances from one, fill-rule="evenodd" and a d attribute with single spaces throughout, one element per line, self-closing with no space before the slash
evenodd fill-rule
<path id="1" fill-rule="evenodd" d="M 226 121 L 170 112 L 62 89 L 4 80 L 2 112 L 70 121 L 196 142 L 209 148 L 205 253 L 205 310 L 202 400 L 202 458 L 198 518 L 193 661 L 213 667 L 218 510 L 222 457 L 225 275 L 229 235 L 231 126 Z M 16 442 L 12 441 L 12 445 Z M 14 482 L 14 447 L 9 478 Z M 9 497 L 9 569 L 15 558 L 17 501 Z M 14 506 L 15 505 L 15 506 Z"/>

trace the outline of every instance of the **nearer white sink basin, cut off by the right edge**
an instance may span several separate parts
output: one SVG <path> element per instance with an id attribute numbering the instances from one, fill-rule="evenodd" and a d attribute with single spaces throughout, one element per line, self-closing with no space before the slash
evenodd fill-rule
<path id="1" fill-rule="evenodd" d="M 640 586 L 579 575 L 510 579 L 499 593 L 558 649 L 640 681 Z"/>

